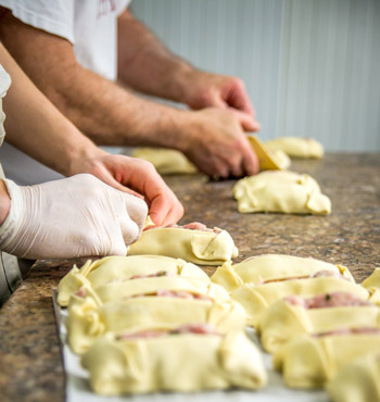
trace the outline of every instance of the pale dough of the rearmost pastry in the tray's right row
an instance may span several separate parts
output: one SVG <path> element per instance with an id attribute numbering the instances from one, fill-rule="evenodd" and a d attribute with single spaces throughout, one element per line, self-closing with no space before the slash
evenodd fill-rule
<path id="1" fill-rule="evenodd" d="M 319 271 L 335 272 L 354 281 L 345 266 L 284 254 L 251 256 L 235 265 L 226 262 L 216 269 L 211 280 L 232 291 L 243 284 L 259 285 L 268 280 L 313 275 Z"/>

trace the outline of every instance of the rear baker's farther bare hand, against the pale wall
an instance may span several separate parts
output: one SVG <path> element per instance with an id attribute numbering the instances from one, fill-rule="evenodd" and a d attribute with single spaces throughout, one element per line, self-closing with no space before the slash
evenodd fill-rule
<path id="1" fill-rule="evenodd" d="M 211 74 L 192 70 L 187 74 L 183 85 L 183 101 L 191 109 L 204 108 L 229 109 L 238 114 L 245 114 L 245 129 L 259 130 L 255 111 L 245 90 L 244 83 L 237 77 Z"/>

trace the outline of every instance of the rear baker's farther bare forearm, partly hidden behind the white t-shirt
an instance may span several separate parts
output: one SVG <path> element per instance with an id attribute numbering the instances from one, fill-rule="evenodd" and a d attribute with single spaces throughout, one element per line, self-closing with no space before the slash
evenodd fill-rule
<path id="1" fill-rule="evenodd" d="M 128 11 L 118 17 L 118 78 L 148 95 L 182 102 L 186 77 L 194 68 L 165 46 Z"/>

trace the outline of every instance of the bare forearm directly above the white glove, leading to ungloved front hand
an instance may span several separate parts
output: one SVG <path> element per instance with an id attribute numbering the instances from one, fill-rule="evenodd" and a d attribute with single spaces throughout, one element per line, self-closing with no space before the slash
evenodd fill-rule
<path id="1" fill-rule="evenodd" d="M 34 86 L 2 45 L 0 62 L 12 77 L 3 100 L 8 142 L 64 175 L 69 175 L 73 160 L 101 152 Z"/>

